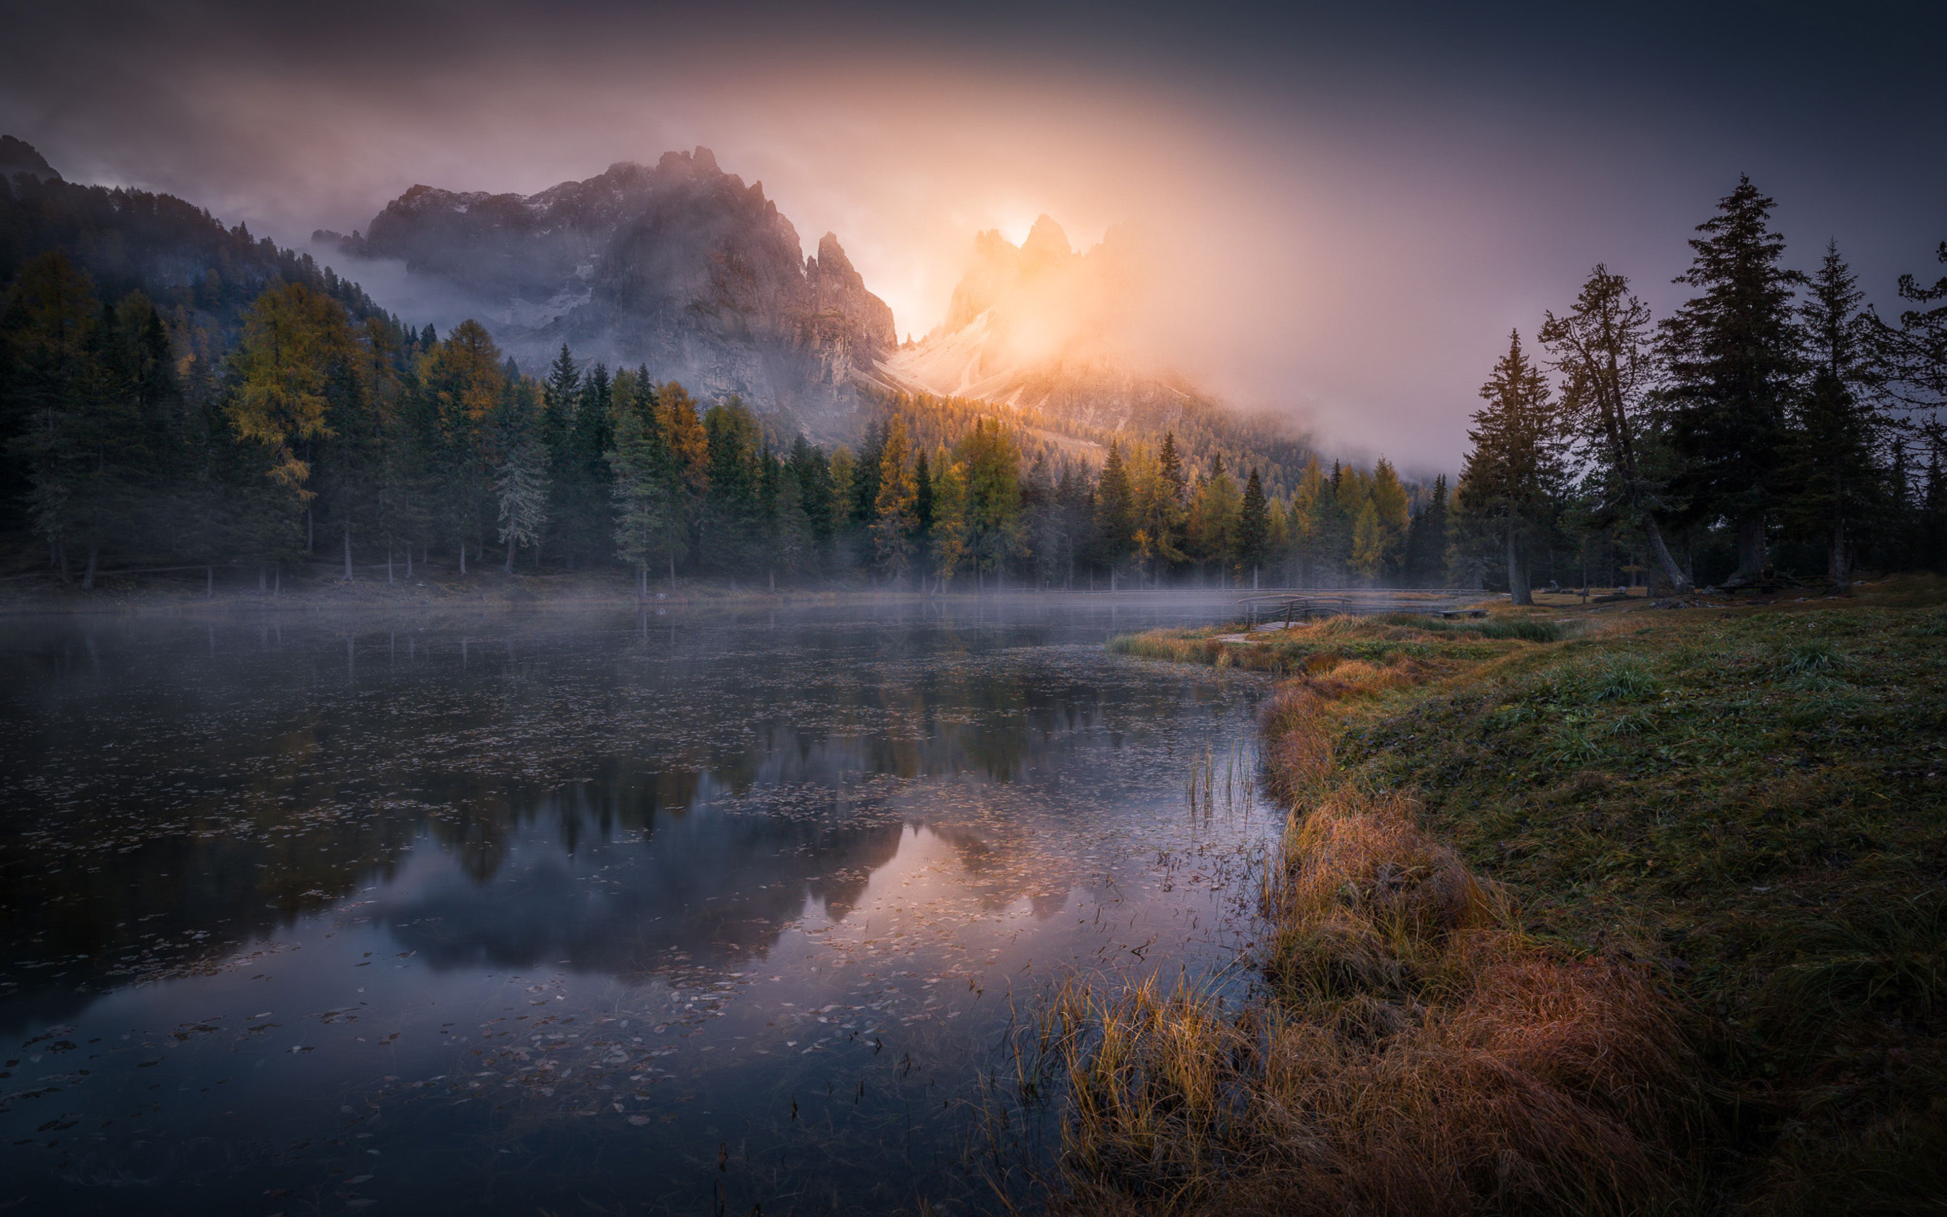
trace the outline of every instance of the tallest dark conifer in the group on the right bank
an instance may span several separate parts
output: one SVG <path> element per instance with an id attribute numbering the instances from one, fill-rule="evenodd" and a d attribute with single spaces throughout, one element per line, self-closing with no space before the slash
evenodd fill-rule
<path id="1" fill-rule="evenodd" d="M 1700 294 L 1663 321 L 1665 399 L 1676 448 L 1678 489 L 1692 518 L 1737 530 L 1737 574 L 1766 567 L 1766 528 L 1778 512 L 1785 426 L 1805 370 L 1793 288 L 1780 267 L 1785 240 L 1772 232 L 1774 203 L 1741 177 L 1717 214 L 1690 241 L 1696 257 L 1674 282 Z"/>

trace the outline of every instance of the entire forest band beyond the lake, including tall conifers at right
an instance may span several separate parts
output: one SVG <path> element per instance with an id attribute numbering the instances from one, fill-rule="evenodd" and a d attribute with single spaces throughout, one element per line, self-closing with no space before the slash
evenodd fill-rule
<path id="1" fill-rule="evenodd" d="M 1655 321 L 1597 267 L 1513 335 L 1472 452 L 1386 460 L 1178 434 L 1063 440 L 1032 411 L 866 399 L 857 450 L 648 368 L 539 376 L 463 321 L 386 313 L 306 255 L 167 195 L 0 191 L 0 535 L 92 590 L 631 572 L 765 586 L 1558 586 L 1824 578 L 1947 561 L 1947 278 L 1881 319 L 1836 245 L 1783 263 L 1741 183 Z M 1947 243 L 1939 251 L 1947 261 Z M 1306 460 L 1301 465 L 1297 456 Z M 1242 461 L 1250 463 L 1242 463 Z"/>

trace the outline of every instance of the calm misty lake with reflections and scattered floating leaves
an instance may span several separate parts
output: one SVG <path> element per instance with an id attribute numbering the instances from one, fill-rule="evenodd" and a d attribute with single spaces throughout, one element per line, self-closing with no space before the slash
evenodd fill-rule
<path id="1" fill-rule="evenodd" d="M 1264 685 L 1102 646 L 1225 608 L 4 623 L 0 1209 L 995 1209 L 1250 935 Z"/>

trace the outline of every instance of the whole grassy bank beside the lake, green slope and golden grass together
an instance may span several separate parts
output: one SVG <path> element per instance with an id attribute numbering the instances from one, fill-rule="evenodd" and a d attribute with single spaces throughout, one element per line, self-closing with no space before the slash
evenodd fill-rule
<path id="1" fill-rule="evenodd" d="M 1120 639 L 1289 674 L 1264 744 L 1295 810 L 1262 999 L 1073 1001 L 1067 1194 L 1937 1207 L 1939 600 Z"/>

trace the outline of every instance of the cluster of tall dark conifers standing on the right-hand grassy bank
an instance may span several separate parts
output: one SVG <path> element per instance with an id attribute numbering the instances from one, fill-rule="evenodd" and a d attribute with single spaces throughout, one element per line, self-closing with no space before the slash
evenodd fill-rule
<path id="1" fill-rule="evenodd" d="M 1532 352 L 1511 335 L 1456 483 L 1460 578 L 1532 604 L 1538 578 L 1587 588 L 1591 571 L 1846 590 L 1861 569 L 1947 565 L 1947 275 L 1900 277 L 1883 319 L 1838 241 L 1811 273 L 1785 265 L 1774 206 L 1739 181 L 1661 321 L 1597 265 Z"/>

